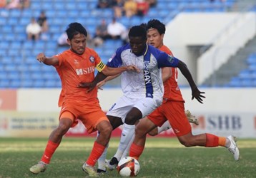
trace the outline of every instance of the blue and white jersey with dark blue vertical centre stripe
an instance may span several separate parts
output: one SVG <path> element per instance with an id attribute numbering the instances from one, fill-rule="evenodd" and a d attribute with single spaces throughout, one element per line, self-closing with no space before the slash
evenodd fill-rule
<path id="1" fill-rule="evenodd" d="M 147 45 L 142 55 L 136 56 L 132 53 L 131 46 L 127 44 L 117 49 L 107 66 L 112 68 L 137 66 L 140 73 L 135 71 L 122 73 L 122 91 L 129 98 L 153 98 L 154 95 L 162 97 L 164 93 L 161 68 L 177 67 L 178 62 L 177 58 L 150 45 Z"/>

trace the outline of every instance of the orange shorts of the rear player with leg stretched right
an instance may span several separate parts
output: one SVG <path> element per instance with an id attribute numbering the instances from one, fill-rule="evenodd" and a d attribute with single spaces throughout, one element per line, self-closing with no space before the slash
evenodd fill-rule
<path id="1" fill-rule="evenodd" d="M 191 125 L 184 112 L 184 103 L 181 101 L 167 100 L 147 117 L 159 127 L 169 120 L 172 130 L 179 137 L 192 132 Z"/>

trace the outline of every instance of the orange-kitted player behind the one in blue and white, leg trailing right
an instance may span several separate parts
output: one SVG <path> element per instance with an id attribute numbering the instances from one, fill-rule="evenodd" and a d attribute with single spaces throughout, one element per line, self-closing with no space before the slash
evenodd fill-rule
<path id="1" fill-rule="evenodd" d="M 147 38 L 149 43 L 161 51 L 171 53 L 167 46 L 164 46 L 163 38 L 165 26 L 160 21 L 153 19 L 147 23 Z M 168 86 L 169 85 L 169 86 Z M 178 137 L 178 140 L 185 147 L 202 146 L 202 147 L 227 147 L 235 160 L 240 157 L 235 137 L 217 137 L 210 133 L 200 135 L 192 135 L 192 128 L 189 125 L 187 117 L 184 113 L 184 100 L 177 85 L 177 70 L 172 68 L 172 77 L 164 83 L 164 102 L 154 112 L 142 120 L 135 129 L 135 137 L 130 148 L 129 156 L 139 159 L 144 150 L 146 135 L 157 126 L 161 126 L 169 120 L 172 129 Z M 170 89 L 168 91 L 168 89 Z"/>

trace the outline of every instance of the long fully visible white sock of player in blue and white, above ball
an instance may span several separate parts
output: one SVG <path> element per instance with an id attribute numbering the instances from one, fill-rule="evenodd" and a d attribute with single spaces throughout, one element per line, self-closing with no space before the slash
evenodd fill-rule
<path id="1" fill-rule="evenodd" d="M 114 157 L 116 157 L 118 161 L 121 159 L 124 153 L 124 150 L 129 145 L 129 142 L 134 135 L 134 131 L 135 131 L 135 125 L 127 125 L 126 123 L 124 123 L 124 128 L 122 130 L 119 146 L 116 154 L 114 155 Z"/>

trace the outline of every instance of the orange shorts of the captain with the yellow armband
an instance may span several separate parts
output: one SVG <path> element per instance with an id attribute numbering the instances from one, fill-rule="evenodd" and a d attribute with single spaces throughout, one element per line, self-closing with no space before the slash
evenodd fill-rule
<path id="1" fill-rule="evenodd" d="M 97 130 L 96 127 L 99 122 L 103 120 L 109 122 L 105 112 L 103 112 L 97 101 L 84 104 L 70 101 L 64 102 L 62 104 L 59 120 L 64 117 L 68 117 L 73 121 L 72 127 L 77 125 L 78 120 L 81 120 L 89 133 Z"/>

